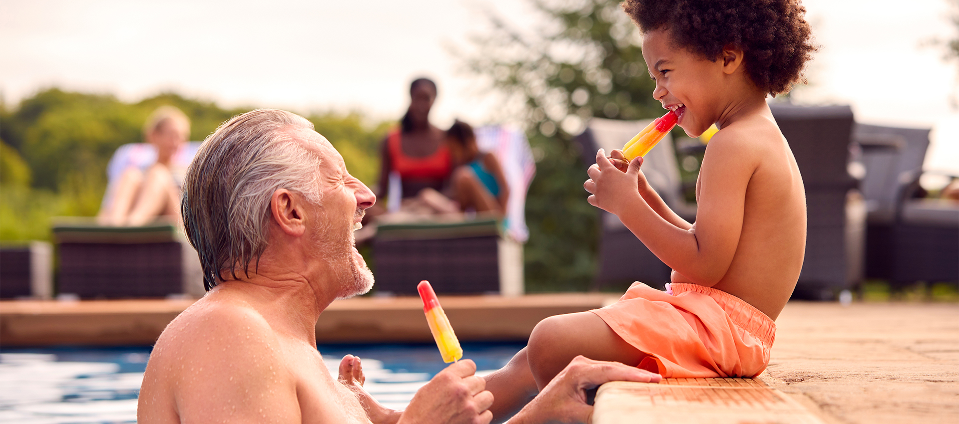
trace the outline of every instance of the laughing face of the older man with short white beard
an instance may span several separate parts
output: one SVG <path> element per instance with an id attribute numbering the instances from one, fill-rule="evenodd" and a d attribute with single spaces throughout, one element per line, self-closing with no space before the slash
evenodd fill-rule
<path id="1" fill-rule="evenodd" d="M 316 257 L 331 267 L 340 282 L 338 299 L 368 292 L 373 287 L 373 273 L 356 249 L 353 232 L 363 219 L 364 211 L 373 206 L 376 196 L 362 181 L 346 170 L 343 158 L 323 136 L 309 129 L 297 130 L 298 138 L 312 145 L 320 157 L 320 205 L 317 219 L 310 226 Z"/>

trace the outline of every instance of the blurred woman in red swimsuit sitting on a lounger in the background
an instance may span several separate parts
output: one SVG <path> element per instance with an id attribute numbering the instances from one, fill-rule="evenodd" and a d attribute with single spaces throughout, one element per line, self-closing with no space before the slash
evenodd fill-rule
<path id="1" fill-rule="evenodd" d="M 430 109 L 436 100 L 436 84 L 417 78 L 409 84 L 409 109 L 400 128 L 386 136 L 381 152 L 380 186 L 377 197 L 386 200 L 390 172 L 397 172 L 403 197 L 414 197 L 424 189 L 442 191 L 449 182 L 453 163 L 446 145 L 446 133 L 430 123 Z"/>

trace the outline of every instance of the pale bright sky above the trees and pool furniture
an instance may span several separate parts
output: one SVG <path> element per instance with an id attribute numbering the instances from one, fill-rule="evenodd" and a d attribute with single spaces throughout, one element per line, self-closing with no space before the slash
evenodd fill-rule
<path id="1" fill-rule="evenodd" d="M 956 65 L 947 0 L 804 0 L 823 50 L 796 93 L 852 104 L 864 123 L 933 127 L 926 168 L 959 172 Z M 174 90 L 222 105 L 402 116 L 411 78 L 439 84 L 435 123 L 484 123 L 497 100 L 448 46 L 492 8 L 535 25 L 522 0 L 0 0 L 0 96 L 58 86 L 140 100 Z"/>

